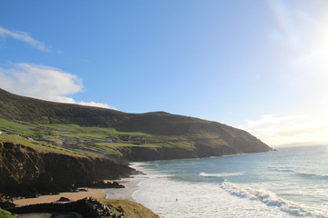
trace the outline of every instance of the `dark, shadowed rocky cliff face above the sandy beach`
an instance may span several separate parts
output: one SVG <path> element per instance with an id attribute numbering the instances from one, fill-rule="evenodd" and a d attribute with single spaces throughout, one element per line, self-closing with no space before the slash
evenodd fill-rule
<path id="1" fill-rule="evenodd" d="M 0 193 L 28 196 L 67 191 L 72 185 L 133 172 L 108 158 L 41 153 L 20 144 L 0 143 Z"/>

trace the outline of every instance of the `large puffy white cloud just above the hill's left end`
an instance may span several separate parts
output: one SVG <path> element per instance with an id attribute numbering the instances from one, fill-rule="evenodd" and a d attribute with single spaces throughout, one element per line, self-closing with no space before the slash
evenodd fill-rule
<path id="1" fill-rule="evenodd" d="M 81 80 L 75 74 L 45 65 L 12 64 L 9 69 L 0 68 L 0 87 L 15 94 L 47 101 L 115 109 L 108 104 L 77 102 L 68 97 L 82 91 Z"/>

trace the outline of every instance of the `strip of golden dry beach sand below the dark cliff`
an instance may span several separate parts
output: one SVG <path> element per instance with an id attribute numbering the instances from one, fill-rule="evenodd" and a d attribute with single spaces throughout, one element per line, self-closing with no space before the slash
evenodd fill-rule
<path id="1" fill-rule="evenodd" d="M 104 193 L 104 189 L 96 189 L 96 188 L 85 188 L 87 192 L 78 192 L 78 193 L 59 193 L 59 194 L 51 194 L 51 195 L 41 195 L 36 198 L 24 198 L 14 201 L 17 206 L 24 206 L 28 204 L 36 204 L 36 203 L 52 203 L 59 200 L 61 197 L 67 197 L 71 201 L 77 201 L 86 197 L 95 197 L 95 198 L 105 198 L 106 193 Z"/>

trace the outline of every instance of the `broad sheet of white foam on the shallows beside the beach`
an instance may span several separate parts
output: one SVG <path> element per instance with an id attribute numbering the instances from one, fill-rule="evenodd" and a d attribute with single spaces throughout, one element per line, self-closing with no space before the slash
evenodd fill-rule
<path id="1" fill-rule="evenodd" d="M 251 194 L 241 197 L 241 190 L 220 183 L 177 182 L 149 169 L 148 179 L 138 183 L 138 191 L 132 197 L 165 218 L 181 217 L 294 217 L 278 207 L 261 201 L 251 201 Z M 236 193 L 236 194 L 233 194 Z M 320 217 L 320 216 L 319 216 Z M 324 217 L 324 216 L 321 216 Z"/>

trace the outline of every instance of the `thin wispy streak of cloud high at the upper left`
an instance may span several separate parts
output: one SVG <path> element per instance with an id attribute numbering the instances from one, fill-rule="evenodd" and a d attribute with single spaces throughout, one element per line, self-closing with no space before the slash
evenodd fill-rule
<path id="1" fill-rule="evenodd" d="M 28 45 L 32 45 L 38 50 L 43 52 L 50 52 L 50 49 L 46 47 L 42 42 L 37 41 L 35 38 L 28 35 L 26 32 L 16 31 L 16 30 L 7 30 L 0 26 L 0 36 L 1 37 L 12 37 L 17 40 L 23 41 Z"/>

